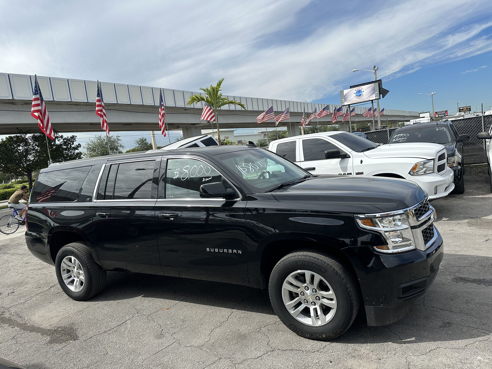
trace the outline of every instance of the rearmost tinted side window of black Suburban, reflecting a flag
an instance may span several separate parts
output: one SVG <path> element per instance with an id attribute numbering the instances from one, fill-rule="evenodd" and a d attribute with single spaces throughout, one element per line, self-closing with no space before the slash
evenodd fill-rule
<path id="1" fill-rule="evenodd" d="M 69 168 L 39 174 L 30 202 L 76 201 L 91 166 Z"/>

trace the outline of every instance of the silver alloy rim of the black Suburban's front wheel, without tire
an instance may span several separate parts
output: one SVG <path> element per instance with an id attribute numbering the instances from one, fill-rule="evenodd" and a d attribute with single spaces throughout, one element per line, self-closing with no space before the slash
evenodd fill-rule
<path id="1" fill-rule="evenodd" d="M 332 286 L 307 270 L 298 270 L 285 278 L 282 300 L 294 318 L 313 327 L 325 325 L 337 312 L 337 296 Z"/>

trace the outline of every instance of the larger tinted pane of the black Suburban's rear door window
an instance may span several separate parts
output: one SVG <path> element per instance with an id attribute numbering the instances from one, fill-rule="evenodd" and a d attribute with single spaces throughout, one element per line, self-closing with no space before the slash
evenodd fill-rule
<path id="1" fill-rule="evenodd" d="M 114 165 L 116 164 L 111 167 Z M 152 179 L 156 170 L 155 160 L 131 161 L 118 164 L 113 200 L 151 199 Z"/>

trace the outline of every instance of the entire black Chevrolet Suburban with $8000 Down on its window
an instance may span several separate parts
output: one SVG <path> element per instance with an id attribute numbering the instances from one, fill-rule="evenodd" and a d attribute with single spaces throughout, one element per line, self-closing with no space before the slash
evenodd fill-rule
<path id="1" fill-rule="evenodd" d="M 434 209 L 404 180 L 313 176 L 258 148 L 215 146 L 52 164 L 31 191 L 26 242 L 74 300 L 106 271 L 268 288 L 300 336 L 335 338 L 359 310 L 402 317 L 435 278 Z"/>

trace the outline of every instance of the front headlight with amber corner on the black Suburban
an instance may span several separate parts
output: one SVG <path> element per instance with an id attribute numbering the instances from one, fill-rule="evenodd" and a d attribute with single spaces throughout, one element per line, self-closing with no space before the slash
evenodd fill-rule
<path id="1" fill-rule="evenodd" d="M 374 246 L 380 252 L 402 252 L 415 249 L 412 230 L 406 214 L 378 218 L 356 217 L 362 228 L 381 233 L 388 245 Z"/>

